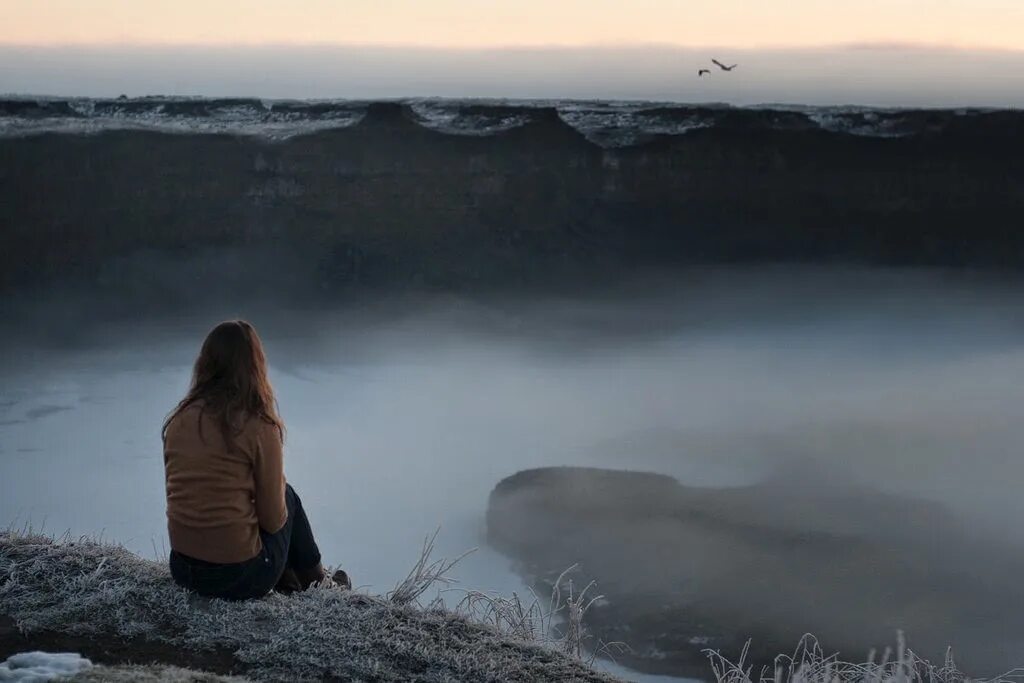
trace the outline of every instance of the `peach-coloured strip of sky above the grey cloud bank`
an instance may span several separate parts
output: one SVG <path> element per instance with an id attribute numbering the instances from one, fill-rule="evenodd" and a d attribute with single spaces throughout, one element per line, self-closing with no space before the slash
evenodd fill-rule
<path id="1" fill-rule="evenodd" d="M 1024 0 L 0 0 L 0 44 L 1024 49 Z"/>

